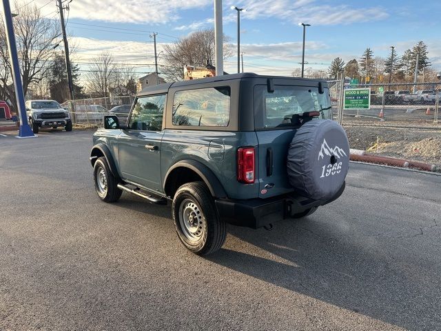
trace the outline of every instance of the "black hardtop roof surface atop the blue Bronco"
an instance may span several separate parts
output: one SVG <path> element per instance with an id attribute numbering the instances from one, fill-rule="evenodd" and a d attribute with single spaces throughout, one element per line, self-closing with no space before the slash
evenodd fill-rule
<path id="1" fill-rule="evenodd" d="M 188 81 L 175 81 L 173 83 L 165 83 L 165 84 L 159 84 L 159 85 L 155 85 L 155 86 L 149 86 L 148 88 L 141 90 L 138 93 L 138 95 L 142 96 L 145 94 L 167 93 L 169 88 L 171 88 L 171 87 L 192 86 L 192 85 L 202 84 L 202 83 L 212 83 L 215 81 L 231 81 L 233 79 L 246 79 L 246 78 L 292 79 L 292 80 L 296 80 L 296 81 L 324 81 L 325 82 L 324 79 L 310 79 L 310 78 L 289 77 L 289 76 L 269 76 L 269 75 L 254 74 L 253 72 L 243 72 L 240 74 L 224 74 L 222 76 L 207 77 L 207 78 L 201 78 L 201 79 L 191 79 Z"/>

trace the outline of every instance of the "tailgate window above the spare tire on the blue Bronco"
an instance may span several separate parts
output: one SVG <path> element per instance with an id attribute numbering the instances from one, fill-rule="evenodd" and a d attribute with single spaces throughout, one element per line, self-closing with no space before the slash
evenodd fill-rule
<path id="1" fill-rule="evenodd" d="M 318 93 L 318 88 L 307 86 L 275 86 L 269 93 L 267 86 L 254 88 L 254 114 L 257 129 L 298 127 L 298 116 L 304 112 L 320 112 L 320 118 L 331 119 L 329 90 Z"/>

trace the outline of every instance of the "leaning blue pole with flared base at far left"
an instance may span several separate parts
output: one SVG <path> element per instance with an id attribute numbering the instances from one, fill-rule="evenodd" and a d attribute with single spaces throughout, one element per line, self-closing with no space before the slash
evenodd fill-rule
<path id="1" fill-rule="evenodd" d="M 28 116 L 25 109 L 25 96 L 17 56 L 17 44 L 15 43 L 14 26 L 12 25 L 12 14 L 9 0 L 3 0 L 3 19 L 6 25 L 6 40 L 8 41 L 9 57 L 12 68 L 12 79 L 14 80 L 15 97 L 20 117 L 20 129 L 17 138 L 37 137 L 28 124 Z"/>

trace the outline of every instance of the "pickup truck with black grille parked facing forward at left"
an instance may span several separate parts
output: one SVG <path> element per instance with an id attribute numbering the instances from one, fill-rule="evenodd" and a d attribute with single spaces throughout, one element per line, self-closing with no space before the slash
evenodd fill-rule
<path id="1" fill-rule="evenodd" d="M 35 134 L 41 128 L 56 129 L 59 126 L 72 131 L 70 113 L 55 100 L 28 100 L 25 108 L 29 125 Z"/>

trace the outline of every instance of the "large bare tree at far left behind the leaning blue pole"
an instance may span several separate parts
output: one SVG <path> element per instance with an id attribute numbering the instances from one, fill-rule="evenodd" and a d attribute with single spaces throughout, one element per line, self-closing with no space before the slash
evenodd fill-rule
<path id="1" fill-rule="evenodd" d="M 23 92 L 26 95 L 32 83 L 39 83 L 54 54 L 56 39 L 61 35 L 56 21 L 45 19 L 37 6 L 19 6 L 17 17 L 14 17 L 14 32 L 17 41 Z M 0 94 L 9 99 L 13 106 L 15 100 L 12 84 L 12 69 L 6 43 L 6 28 L 0 21 Z"/>

